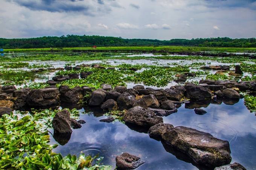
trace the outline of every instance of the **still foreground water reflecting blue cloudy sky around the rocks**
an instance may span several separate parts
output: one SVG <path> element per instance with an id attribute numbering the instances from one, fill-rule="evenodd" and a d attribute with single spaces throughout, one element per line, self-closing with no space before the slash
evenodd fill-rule
<path id="1" fill-rule="evenodd" d="M 195 114 L 192 109 L 195 103 L 191 102 L 183 104 L 178 108 L 177 113 L 163 117 L 163 120 L 164 123 L 191 127 L 229 141 L 232 163 L 239 162 L 247 169 L 255 169 L 256 116 L 247 110 L 243 102 L 241 99 L 235 104 L 230 103 L 233 105 L 224 103 L 197 105 L 206 107 L 204 110 L 207 113 L 204 115 Z M 83 111 L 84 109 L 81 109 L 81 112 Z M 59 145 L 54 151 L 63 155 L 68 153 L 96 155 L 99 153 L 104 157 L 102 163 L 113 167 L 115 167 L 115 157 L 128 152 L 146 161 L 138 170 L 198 169 L 183 153 L 151 139 L 146 130 L 128 127 L 120 122 L 99 122 L 100 119 L 105 118 L 106 116 L 102 116 L 102 112 L 96 108 L 90 114 L 81 114 L 80 119 L 85 120 L 86 123 L 81 129 L 73 130 L 67 144 Z M 56 143 L 52 136 L 51 143 Z"/>

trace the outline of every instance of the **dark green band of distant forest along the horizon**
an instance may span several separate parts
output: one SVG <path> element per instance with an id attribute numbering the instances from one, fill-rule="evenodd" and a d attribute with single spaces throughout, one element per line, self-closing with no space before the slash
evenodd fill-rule
<path id="1" fill-rule="evenodd" d="M 203 46 L 203 47 L 256 47 L 256 38 L 231 39 L 224 38 L 197 38 L 192 40 L 149 40 L 149 39 L 123 39 L 122 37 L 79 36 L 67 35 L 61 37 L 38 37 L 5 39 L 0 38 L 0 48 L 61 48 L 61 47 L 99 47 L 106 46 Z"/>

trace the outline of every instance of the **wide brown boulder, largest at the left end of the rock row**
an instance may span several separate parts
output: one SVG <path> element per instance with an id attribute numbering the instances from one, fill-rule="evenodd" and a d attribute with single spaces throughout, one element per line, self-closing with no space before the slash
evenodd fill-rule
<path id="1" fill-rule="evenodd" d="M 35 108 L 50 108 L 60 104 L 58 88 L 44 88 L 29 92 L 26 104 Z"/>

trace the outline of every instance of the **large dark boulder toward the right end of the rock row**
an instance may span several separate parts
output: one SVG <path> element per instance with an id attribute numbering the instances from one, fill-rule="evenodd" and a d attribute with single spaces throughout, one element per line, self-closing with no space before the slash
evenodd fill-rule
<path id="1" fill-rule="evenodd" d="M 185 85 L 185 88 L 186 88 L 186 97 L 188 97 L 189 99 L 201 100 L 201 99 L 212 98 L 212 94 L 209 92 L 209 90 L 200 85 L 189 83 Z"/>

